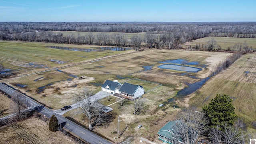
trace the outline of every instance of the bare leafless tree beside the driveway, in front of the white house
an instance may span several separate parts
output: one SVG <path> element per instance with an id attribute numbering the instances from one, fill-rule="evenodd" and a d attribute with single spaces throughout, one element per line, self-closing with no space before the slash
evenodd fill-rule
<path id="1" fill-rule="evenodd" d="M 92 130 L 96 124 L 103 123 L 106 120 L 105 106 L 98 103 L 92 98 L 92 92 L 84 89 L 80 94 L 74 97 L 75 101 L 80 107 L 76 114 L 84 114 L 88 118 L 89 130 Z"/>

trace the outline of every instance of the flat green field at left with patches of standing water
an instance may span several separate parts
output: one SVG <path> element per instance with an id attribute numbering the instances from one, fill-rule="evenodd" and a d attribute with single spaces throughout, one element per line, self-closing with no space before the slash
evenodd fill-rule
<path id="1" fill-rule="evenodd" d="M 78 52 L 48 48 L 50 46 L 98 50 L 98 46 L 0 41 L 0 59 L 6 68 L 27 74 L 126 52 L 110 50 Z"/>

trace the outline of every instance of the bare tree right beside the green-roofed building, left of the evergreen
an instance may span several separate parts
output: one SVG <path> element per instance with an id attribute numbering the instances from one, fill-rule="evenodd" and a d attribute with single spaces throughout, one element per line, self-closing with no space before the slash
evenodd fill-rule
<path id="1" fill-rule="evenodd" d="M 206 124 L 203 112 L 184 110 L 177 117 L 174 137 L 182 140 L 184 144 L 195 144 L 198 137 L 206 132 Z"/>

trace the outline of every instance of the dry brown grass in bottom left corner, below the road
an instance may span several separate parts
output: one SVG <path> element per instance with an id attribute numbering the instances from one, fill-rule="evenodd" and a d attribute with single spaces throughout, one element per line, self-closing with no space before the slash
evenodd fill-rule
<path id="1" fill-rule="evenodd" d="M 23 137 L 26 135 L 32 143 L 43 142 L 45 144 L 76 144 L 70 137 L 61 132 L 51 132 L 46 122 L 38 118 L 29 118 L 12 125 L 0 127 L 1 144 L 28 144 Z M 33 140 L 36 141 L 32 141 Z"/>

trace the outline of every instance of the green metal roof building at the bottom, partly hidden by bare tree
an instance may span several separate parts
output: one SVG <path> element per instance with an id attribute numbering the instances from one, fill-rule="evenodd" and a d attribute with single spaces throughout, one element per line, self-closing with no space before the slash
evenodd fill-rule
<path id="1" fill-rule="evenodd" d="M 164 125 L 160 130 L 158 130 L 159 140 L 166 142 L 168 144 L 183 144 L 182 142 L 176 142 L 174 138 L 175 125 L 177 121 L 170 121 Z"/>

